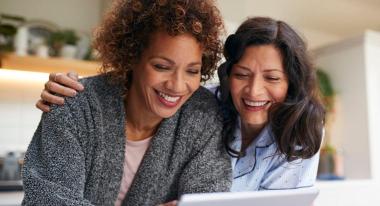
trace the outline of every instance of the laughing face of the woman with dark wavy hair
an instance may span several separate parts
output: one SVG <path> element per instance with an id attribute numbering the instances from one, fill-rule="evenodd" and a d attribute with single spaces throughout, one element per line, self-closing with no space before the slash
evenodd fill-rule
<path id="1" fill-rule="evenodd" d="M 273 45 L 249 46 L 229 77 L 232 101 L 242 120 L 256 128 L 268 122 L 268 111 L 288 91 L 282 56 Z"/>

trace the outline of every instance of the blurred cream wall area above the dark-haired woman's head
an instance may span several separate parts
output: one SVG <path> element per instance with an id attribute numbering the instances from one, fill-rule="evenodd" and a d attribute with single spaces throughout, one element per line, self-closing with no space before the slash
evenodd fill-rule
<path id="1" fill-rule="evenodd" d="M 238 25 L 252 16 L 283 20 L 306 37 L 311 49 L 359 35 L 366 29 L 380 30 L 378 0 L 217 0 L 217 3 L 224 20 Z"/>

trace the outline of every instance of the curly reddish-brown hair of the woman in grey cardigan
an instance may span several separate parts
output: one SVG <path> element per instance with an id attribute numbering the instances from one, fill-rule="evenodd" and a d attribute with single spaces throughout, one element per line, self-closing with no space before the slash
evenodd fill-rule
<path id="1" fill-rule="evenodd" d="M 133 66 L 149 46 L 151 35 L 159 30 L 172 36 L 194 36 L 203 48 L 201 80 L 210 79 L 221 58 L 224 31 L 212 0 L 115 0 L 95 31 L 101 72 L 128 89 Z"/>

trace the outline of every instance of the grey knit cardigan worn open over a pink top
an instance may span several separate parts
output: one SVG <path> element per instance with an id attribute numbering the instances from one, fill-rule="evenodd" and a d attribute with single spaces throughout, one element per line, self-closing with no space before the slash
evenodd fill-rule
<path id="1" fill-rule="evenodd" d="M 122 87 L 106 75 L 82 79 L 84 92 L 42 115 L 23 169 L 23 205 L 114 205 L 123 174 Z M 185 193 L 229 191 L 217 103 L 205 88 L 164 119 L 123 205 L 157 205 Z"/>

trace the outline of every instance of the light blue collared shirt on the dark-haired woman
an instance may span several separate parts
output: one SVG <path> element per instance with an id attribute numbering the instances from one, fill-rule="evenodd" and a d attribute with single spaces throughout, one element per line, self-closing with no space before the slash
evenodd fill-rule
<path id="1" fill-rule="evenodd" d="M 231 147 L 241 147 L 240 119 L 235 129 Z M 284 155 L 276 153 L 277 144 L 266 126 L 247 148 L 246 155 L 231 158 L 233 169 L 232 192 L 278 190 L 309 187 L 315 183 L 319 153 L 310 159 L 287 162 Z"/>

